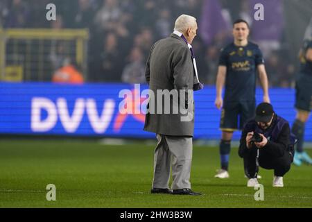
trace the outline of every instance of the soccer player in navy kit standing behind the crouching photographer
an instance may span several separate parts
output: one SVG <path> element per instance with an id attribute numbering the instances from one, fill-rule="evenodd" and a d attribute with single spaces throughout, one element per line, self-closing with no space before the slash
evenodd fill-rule
<path id="1" fill-rule="evenodd" d="M 248 23 L 239 19 L 233 24 L 234 42 L 221 50 L 216 80 L 216 108 L 222 108 L 220 130 L 221 169 L 216 178 L 228 178 L 229 153 L 234 130 L 241 130 L 254 117 L 256 99 L 256 72 L 263 89 L 263 102 L 270 103 L 268 77 L 262 53 L 257 44 L 248 41 Z M 222 98 L 225 85 L 224 102 Z"/>

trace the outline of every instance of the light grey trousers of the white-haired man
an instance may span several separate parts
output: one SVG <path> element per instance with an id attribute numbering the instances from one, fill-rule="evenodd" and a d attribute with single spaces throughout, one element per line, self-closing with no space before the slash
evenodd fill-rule
<path id="1" fill-rule="evenodd" d="M 158 134 L 156 137 L 153 188 L 168 188 L 172 167 L 171 189 L 190 189 L 193 138 Z"/>

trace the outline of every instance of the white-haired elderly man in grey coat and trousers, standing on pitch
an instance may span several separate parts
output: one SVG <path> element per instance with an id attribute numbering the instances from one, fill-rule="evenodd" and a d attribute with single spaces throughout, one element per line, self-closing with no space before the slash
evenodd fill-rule
<path id="1" fill-rule="evenodd" d="M 196 18 L 181 15 L 174 32 L 156 42 L 146 63 L 149 96 L 144 130 L 156 133 L 152 194 L 200 195 L 191 190 L 193 90 L 199 83 L 191 43 Z M 170 107 L 168 107 L 168 105 Z M 168 188 L 172 164 L 173 183 Z"/>

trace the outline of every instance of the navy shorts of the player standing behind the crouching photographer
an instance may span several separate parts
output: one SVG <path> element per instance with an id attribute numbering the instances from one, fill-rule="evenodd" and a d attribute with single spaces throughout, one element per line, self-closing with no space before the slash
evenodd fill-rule
<path id="1" fill-rule="evenodd" d="M 242 130 L 245 123 L 255 115 L 254 101 L 225 102 L 221 112 L 220 130 L 233 132 Z"/>

